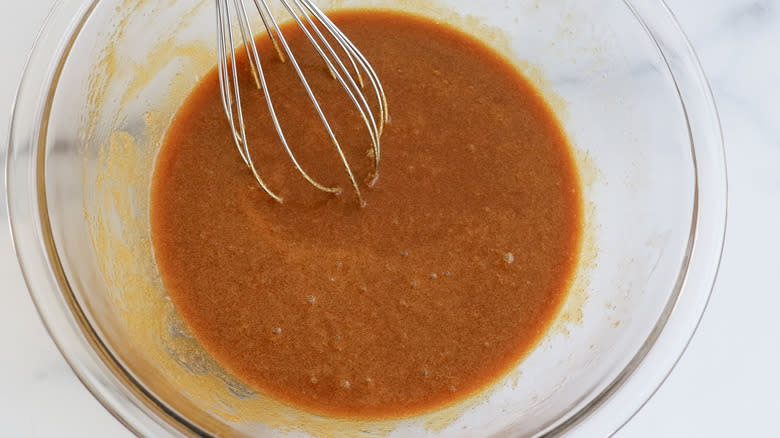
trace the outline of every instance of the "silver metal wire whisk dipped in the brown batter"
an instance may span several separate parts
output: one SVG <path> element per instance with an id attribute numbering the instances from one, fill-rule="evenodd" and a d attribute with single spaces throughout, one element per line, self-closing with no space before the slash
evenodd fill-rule
<path id="1" fill-rule="evenodd" d="M 241 40 L 246 49 L 255 82 L 257 87 L 263 90 L 269 115 L 285 152 L 290 157 L 290 160 L 298 172 L 312 186 L 325 192 L 338 193 L 341 191 L 339 187 L 329 187 L 320 184 L 306 173 L 303 167 L 298 163 L 298 160 L 296 160 L 295 154 L 287 143 L 282 127 L 279 124 L 276 110 L 274 109 L 274 103 L 266 83 L 266 78 L 263 74 L 260 56 L 258 54 L 257 46 L 255 45 L 254 32 L 250 26 L 249 14 L 245 5 L 245 2 L 247 1 L 249 0 L 216 0 L 220 91 L 222 94 L 222 104 L 228 122 L 230 123 L 233 140 L 238 148 L 238 152 L 241 154 L 244 163 L 252 171 L 263 190 L 275 200 L 282 202 L 282 198 L 272 191 L 260 177 L 249 152 L 245 121 L 241 108 L 241 95 L 238 88 L 238 70 L 236 68 L 236 59 L 233 55 L 234 43 L 236 41 L 233 30 L 233 16 L 235 16 L 237 21 Z M 314 108 L 322 121 L 324 129 L 327 131 L 330 140 L 338 151 L 341 158 L 341 164 L 349 175 L 352 187 L 357 194 L 358 202 L 363 205 L 360 188 L 352 173 L 349 162 L 344 155 L 344 151 L 331 129 L 328 119 L 322 111 L 320 102 L 317 100 L 314 91 L 309 86 L 309 82 L 306 80 L 303 71 L 298 65 L 284 35 L 282 35 L 279 21 L 277 21 L 277 18 L 272 14 L 268 1 L 269 0 L 251 0 L 251 2 L 254 3 L 254 8 L 260 14 L 266 33 L 271 39 L 280 60 L 282 62 L 289 60 L 297 73 L 301 85 L 305 88 L 311 103 L 314 105 Z M 335 80 L 338 81 L 344 91 L 348 94 L 363 119 L 373 147 L 373 171 L 371 175 L 369 175 L 369 179 L 372 181 L 375 180 L 379 169 L 379 138 L 382 135 L 384 124 L 388 121 L 387 99 L 385 98 L 382 84 L 379 82 L 376 72 L 357 47 L 355 47 L 339 28 L 336 27 L 336 25 L 333 24 L 333 22 L 310 0 L 279 0 L 279 2 L 290 17 L 298 24 L 308 41 L 328 66 L 328 69 L 330 69 Z M 231 14 L 230 11 L 230 3 L 233 5 L 233 14 Z M 331 42 L 335 42 L 340 49 L 341 55 L 337 54 L 336 48 Z M 364 77 L 368 80 L 369 92 L 375 95 L 374 98 L 377 101 L 377 110 L 372 109 L 371 105 L 369 105 L 369 97 L 364 93 L 364 90 L 366 89 Z"/>

